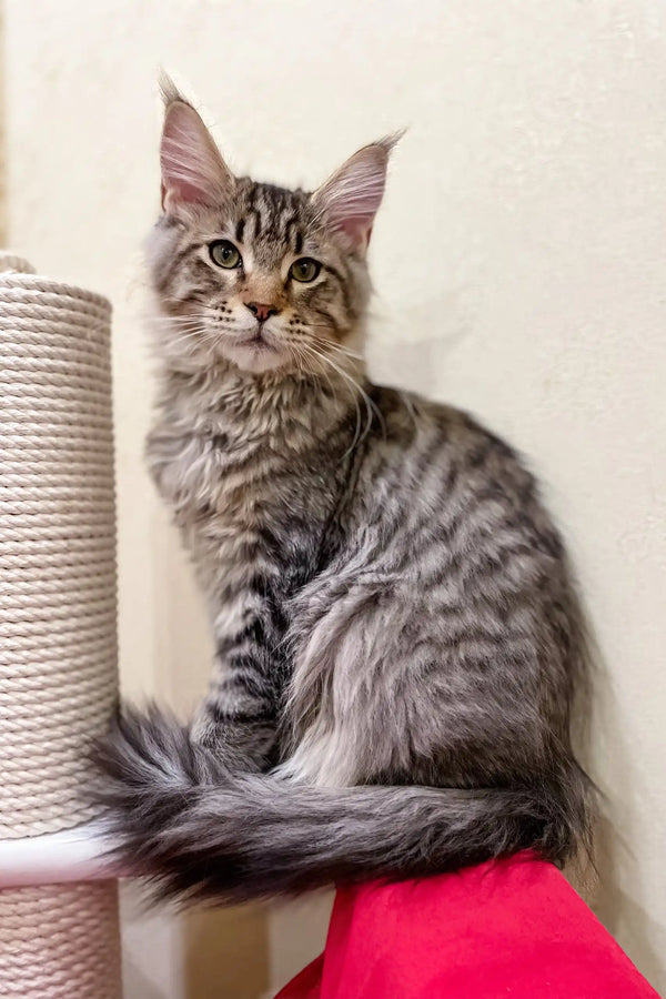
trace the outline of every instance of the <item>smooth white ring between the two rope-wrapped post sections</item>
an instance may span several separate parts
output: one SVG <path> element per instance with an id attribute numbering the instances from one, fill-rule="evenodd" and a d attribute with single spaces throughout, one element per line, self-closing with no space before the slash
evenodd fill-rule
<path id="1" fill-rule="evenodd" d="M 61 833 L 0 839 L 0 890 L 119 877 L 95 823 Z"/>

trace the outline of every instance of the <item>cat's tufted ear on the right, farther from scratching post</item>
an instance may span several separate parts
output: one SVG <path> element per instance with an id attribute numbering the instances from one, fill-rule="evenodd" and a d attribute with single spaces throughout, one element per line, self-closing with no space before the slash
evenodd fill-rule
<path id="1" fill-rule="evenodd" d="M 359 253 L 367 249 L 384 196 L 389 155 L 398 139 L 395 135 L 363 147 L 312 195 L 322 221 Z"/>

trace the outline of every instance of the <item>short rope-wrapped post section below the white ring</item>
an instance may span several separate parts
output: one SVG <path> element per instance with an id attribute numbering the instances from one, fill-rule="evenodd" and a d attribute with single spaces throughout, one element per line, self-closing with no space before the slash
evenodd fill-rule
<path id="1" fill-rule="evenodd" d="M 0 996 L 121 999 L 118 887 L 0 891 Z"/>

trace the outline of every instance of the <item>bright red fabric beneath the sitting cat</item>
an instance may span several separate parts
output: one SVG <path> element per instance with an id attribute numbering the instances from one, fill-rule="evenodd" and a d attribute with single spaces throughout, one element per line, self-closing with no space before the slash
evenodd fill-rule
<path id="1" fill-rule="evenodd" d="M 658 999 L 552 865 L 522 854 L 335 898 L 326 949 L 276 999 Z"/>

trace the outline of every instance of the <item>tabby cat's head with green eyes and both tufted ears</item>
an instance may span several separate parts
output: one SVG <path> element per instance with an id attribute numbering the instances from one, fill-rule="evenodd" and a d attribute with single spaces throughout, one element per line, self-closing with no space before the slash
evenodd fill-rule
<path id="1" fill-rule="evenodd" d="M 234 176 L 194 108 L 169 84 L 164 99 L 163 214 L 149 243 L 160 312 L 173 317 L 158 329 L 161 351 L 190 371 L 340 365 L 363 326 L 392 140 L 313 193 L 290 191 Z"/>

